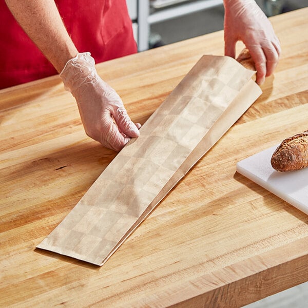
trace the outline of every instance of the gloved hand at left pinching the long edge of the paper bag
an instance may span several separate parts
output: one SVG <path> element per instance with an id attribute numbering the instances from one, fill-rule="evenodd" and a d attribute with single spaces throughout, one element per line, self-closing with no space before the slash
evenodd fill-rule
<path id="1" fill-rule="evenodd" d="M 69 60 L 60 76 L 76 99 L 89 137 L 120 151 L 131 138 L 139 136 L 141 125 L 130 120 L 117 92 L 100 78 L 89 52 Z"/>

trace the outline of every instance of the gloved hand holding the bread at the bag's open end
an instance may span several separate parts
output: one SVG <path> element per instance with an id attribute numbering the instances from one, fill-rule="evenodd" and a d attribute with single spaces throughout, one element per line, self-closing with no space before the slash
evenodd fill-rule
<path id="1" fill-rule="evenodd" d="M 235 57 L 235 45 L 242 41 L 255 62 L 257 83 L 276 68 L 280 42 L 271 23 L 254 0 L 224 0 L 225 55 Z"/>

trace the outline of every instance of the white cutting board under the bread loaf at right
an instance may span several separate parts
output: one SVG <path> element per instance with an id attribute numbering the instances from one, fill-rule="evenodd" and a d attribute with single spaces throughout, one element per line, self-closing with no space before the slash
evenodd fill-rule
<path id="1" fill-rule="evenodd" d="M 278 145 L 237 163 L 237 171 L 308 214 L 308 168 L 278 172 L 271 157 Z"/>

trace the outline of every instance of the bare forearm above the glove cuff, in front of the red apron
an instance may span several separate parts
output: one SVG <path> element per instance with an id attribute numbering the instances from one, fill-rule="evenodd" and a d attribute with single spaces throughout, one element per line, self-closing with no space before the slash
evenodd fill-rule
<path id="1" fill-rule="evenodd" d="M 53 0 L 5 0 L 16 21 L 58 72 L 78 53 Z"/>

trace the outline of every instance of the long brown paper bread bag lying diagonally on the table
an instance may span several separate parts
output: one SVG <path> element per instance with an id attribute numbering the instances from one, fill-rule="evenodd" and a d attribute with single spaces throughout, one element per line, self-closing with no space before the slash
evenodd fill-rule
<path id="1" fill-rule="evenodd" d="M 259 97 L 254 71 L 203 56 L 37 247 L 103 265 Z"/>

